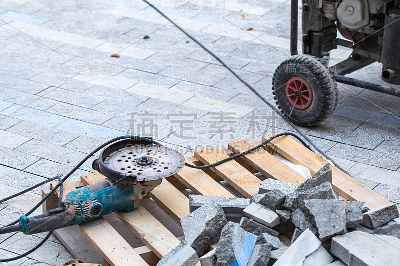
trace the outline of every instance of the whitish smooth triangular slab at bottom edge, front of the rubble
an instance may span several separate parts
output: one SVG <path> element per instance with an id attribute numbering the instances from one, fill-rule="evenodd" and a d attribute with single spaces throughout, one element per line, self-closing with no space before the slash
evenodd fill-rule
<path id="1" fill-rule="evenodd" d="M 310 230 L 305 230 L 273 266 L 325 266 L 333 261 Z"/>

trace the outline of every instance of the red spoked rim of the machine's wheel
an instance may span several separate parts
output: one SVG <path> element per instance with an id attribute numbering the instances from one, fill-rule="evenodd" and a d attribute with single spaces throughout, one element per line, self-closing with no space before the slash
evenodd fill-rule
<path id="1" fill-rule="evenodd" d="M 305 109 L 312 102 L 311 88 L 301 77 L 292 77 L 286 83 L 286 97 L 295 108 Z"/>

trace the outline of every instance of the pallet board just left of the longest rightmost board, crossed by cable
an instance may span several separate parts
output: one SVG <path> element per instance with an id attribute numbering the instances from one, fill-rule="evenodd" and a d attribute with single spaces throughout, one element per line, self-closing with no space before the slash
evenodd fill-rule
<path id="1" fill-rule="evenodd" d="M 228 148 L 235 154 L 242 153 L 251 149 L 261 142 L 252 142 L 251 140 L 242 140 L 228 144 Z M 301 184 L 305 178 L 299 175 L 296 171 L 286 166 L 284 163 L 273 157 L 266 150 L 259 148 L 252 153 L 242 156 L 243 160 L 249 165 L 257 169 L 261 174 L 268 178 L 273 178 L 279 181 Z"/>

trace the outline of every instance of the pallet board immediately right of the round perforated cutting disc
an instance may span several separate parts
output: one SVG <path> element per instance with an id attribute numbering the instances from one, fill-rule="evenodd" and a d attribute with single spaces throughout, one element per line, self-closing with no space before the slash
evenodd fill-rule
<path id="1" fill-rule="evenodd" d="M 185 161 L 193 164 L 190 158 L 185 158 Z M 174 176 L 197 195 L 235 197 L 201 169 L 184 166 Z"/>

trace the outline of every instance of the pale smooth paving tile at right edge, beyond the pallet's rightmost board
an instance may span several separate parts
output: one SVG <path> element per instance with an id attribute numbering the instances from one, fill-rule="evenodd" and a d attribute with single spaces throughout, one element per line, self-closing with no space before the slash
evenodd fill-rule
<path id="1" fill-rule="evenodd" d="M 400 173 L 381 167 L 356 163 L 348 171 L 352 176 L 368 179 L 382 184 L 400 187 Z"/>

